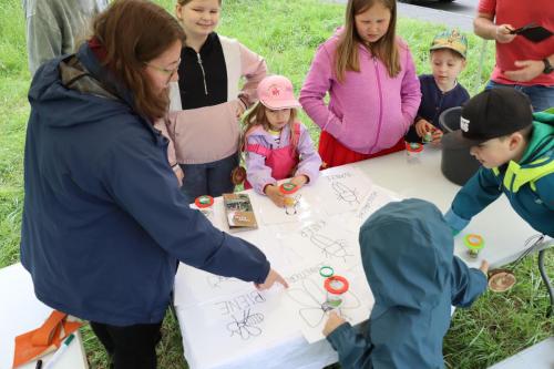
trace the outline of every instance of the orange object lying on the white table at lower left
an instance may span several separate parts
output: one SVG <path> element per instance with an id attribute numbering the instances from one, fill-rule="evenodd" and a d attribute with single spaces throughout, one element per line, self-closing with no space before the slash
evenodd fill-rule
<path id="1" fill-rule="evenodd" d="M 52 311 L 40 328 L 16 337 L 13 368 L 55 350 L 81 325 L 80 321 L 68 321 L 68 315 L 64 312 Z"/>

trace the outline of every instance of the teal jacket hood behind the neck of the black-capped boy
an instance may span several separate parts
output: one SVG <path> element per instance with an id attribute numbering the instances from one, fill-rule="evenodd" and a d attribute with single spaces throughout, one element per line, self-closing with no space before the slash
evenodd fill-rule
<path id="1" fill-rule="evenodd" d="M 533 119 L 533 133 L 522 163 L 532 162 L 554 150 L 554 113 L 534 113 Z"/>

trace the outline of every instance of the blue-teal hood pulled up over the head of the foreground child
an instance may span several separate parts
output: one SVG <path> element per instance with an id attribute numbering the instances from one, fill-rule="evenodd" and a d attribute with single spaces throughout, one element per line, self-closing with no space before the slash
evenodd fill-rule
<path id="1" fill-rule="evenodd" d="M 373 312 L 391 307 L 422 310 L 439 304 L 454 246 L 437 206 L 416 198 L 387 204 L 362 225 L 359 242 L 376 299 Z"/>

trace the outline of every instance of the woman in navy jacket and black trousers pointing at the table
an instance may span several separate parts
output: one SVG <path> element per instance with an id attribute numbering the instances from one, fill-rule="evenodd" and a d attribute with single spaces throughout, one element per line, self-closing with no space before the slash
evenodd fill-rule
<path id="1" fill-rule="evenodd" d="M 177 259 L 259 288 L 286 283 L 188 207 L 153 129 L 177 79 L 177 21 L 123 0 L 93 31 L 31 84 L 21 262 L 41 301 L 91 321 L 115 368 L 155 368 Z"/>

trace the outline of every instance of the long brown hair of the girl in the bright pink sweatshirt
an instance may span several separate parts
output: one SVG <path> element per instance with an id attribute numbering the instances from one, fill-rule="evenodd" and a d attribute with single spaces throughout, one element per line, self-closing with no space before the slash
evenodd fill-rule
<path id="1" fill-rule="evenodd" d="M 335 75 L 339 82 L 345 81 L 347 71 L 359 72 L 358 58 L 359 44 L 365 44 L 356 31 L 355 17 L 367 11 L 377 2 L 390 10 L 390 23 L 387 33 L 368 48 L 387 66 L 391 78 L 401 71 L 400 55 L 396 41 L 397 29 L 397 1 L 396 0 L 349 0 L 345 14 L 345 29 L 340 35 L 335 53 Z"/>

